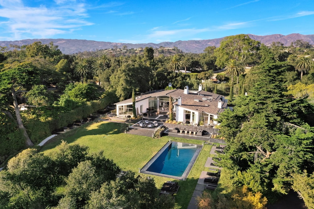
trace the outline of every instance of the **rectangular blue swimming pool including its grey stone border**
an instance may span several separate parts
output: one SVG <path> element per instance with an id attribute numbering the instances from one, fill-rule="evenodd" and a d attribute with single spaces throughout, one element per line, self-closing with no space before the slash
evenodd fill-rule
<path id="1" fill-rule="evenodd" d="M 140 172 L 185 180 L 202 147 L 197 144 L 167 142 Z"/>

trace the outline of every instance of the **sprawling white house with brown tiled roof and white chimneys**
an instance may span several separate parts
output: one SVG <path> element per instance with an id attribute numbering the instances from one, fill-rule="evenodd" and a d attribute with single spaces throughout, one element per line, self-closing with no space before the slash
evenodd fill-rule
<path id="1" fill-rule="evenodd" d="M 171 83 L 169 83 L 171 86 Z M 227 108 L 228 100 L 224 96 L 203 91 L 200 84 L 198 90 L 182 89 L 158 90 L 136 97 L 135 108 L 138 114 L 155 110 L 156 114 L 169 112 L 169 97 L 173 101 L 173 113 L 176 121 L 199 125 L 217 124 L 215 119 Z M 133 115 L 132 99 L 127 99 L 116 105 L 117 116 Z"/>

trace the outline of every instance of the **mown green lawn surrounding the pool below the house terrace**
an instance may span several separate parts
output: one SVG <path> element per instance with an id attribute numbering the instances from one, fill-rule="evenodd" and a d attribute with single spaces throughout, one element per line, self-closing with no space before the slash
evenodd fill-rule
<path id="1" fill-rule="evenodd" d="M 63 136 L 57 136 L 52 142 L 42 147 L 44 153 L 51 152 L 54 147 L 61 143 L 61 139 L 71 143 L 78 143 L 89 147 L 89 152 L 104 151 L 106 158 L 113 161 L 122 170 L 131 170 L 138 172 L 166 142 L 171 141 L 187 142 L 193 144 L 202 144 L 203 141 L 188 140 L 176 137 L 162 137 L 161 139 L 153 139 L 151 137 L 137 136 L 123 133 L 126 124 L 116 122 L 98 122 L 86 124 L 76 128 Z M 207 157 L 209 157 L 211 146 L 204 145 L 200 155 L 198 156 L 187 180 L 178 181 L 180 188 L 176 197 L 176 208 L 187 208 L 198 178 L 202 170 L 208 170 L 204 167 Z M 148 176 L 140 174 L 141 176 Z M 157 188 L 161 188 L 165 181 L 173 179 L 151 176 L 154 178 Z M 177 181 L 177 180 L 175 180 Z"/>

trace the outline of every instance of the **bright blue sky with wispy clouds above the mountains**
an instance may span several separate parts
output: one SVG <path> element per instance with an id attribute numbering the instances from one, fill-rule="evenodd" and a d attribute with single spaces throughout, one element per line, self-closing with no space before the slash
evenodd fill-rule
<path id="1" fill-rule="evenodd" d="M 0 0 L 0 40 L 122 43 L 314 34 L 314 3 L 276 0 Z"/>

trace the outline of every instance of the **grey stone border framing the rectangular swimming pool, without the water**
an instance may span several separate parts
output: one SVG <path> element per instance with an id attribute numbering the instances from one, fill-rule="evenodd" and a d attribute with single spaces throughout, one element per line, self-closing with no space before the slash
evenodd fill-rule
<path id="1" fill-rule="evenodd" d="M 163 153 L 165 151 L 166 148 L 169 147 L 170 143 L 177 143 L 177 142 L 172 142 L 169 141 L 167 142 L 155 155 L 154 157 L 152 157 L 144 166 L 142 169 L 139 170 L 140 173 L 143 174 L 151 174 L 151 175 L 155 175 L 155 176 L 162 176 L 162 177 L 166 177 L 166 178 L 172 178 L 172 179 L 177 179 L 177 180 L 186 180 L 188 174 L 190 173 L 196 159 L 198 158 L 199 153 L 201 153 L 202 149 L 203 149 L 203 145 L 200 144 L 192 144 L 192 143 L 185 143 L 185 142 L 181 142 L 181 143 L 185 143 L 185 144 L 192 144 L 192 145 L 196 145 L 197 150 L 194 153 L 193 157 L 190 160 L 190 163 L 187 165 L 187 168 L 185 169 L 185 171 L 183 172 L 182 176 L 172 176 L 172 175 L 167 175 L 167 174 L 160 174 L 160 173 L 155 173 L 155 172 L 150 172 L 147 171 L 147 169 L 149 168 L 149 166 L 160 156 L 161 153 Z"/>

